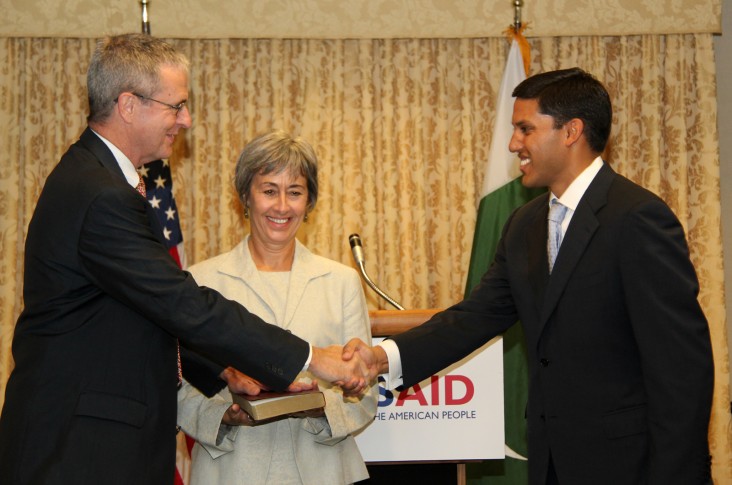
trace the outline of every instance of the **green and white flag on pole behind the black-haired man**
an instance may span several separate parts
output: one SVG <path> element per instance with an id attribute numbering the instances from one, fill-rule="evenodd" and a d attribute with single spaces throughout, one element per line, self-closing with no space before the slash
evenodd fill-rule
<path id="1" fill-rule="evenodd" d="M 496 122 L 483 181 L 478 220 L 473 236 L 470 268 L 465 294 L 470 294 L 495 256 L 503 225 L 511 212 L 544 189 L 526 189 L 521 185 L 518 157 L 508 151 L 513 134 L 513 89 L 524 79 L 529 65 L 529 46 L 521 30 L 507 32 L 511 48 L 506 61 L 496 103 Z M 504 411 L 506 427 L 506 460 L 469 464 L 469 475 L 482 475 L 485 483 L 528 483 L 528 445 L 525 410 L 528 400 L 528 366 L 523 328 L 514 325 L 503 335 Z"/>

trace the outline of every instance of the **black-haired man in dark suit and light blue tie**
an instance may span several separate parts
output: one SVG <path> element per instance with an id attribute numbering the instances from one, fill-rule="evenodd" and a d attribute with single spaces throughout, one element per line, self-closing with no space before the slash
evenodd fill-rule
<path id="1" fill-rule="evenodd" d="M 547 72 L 513 94 L 509 148 L 549 193 L 512 214 L 468 298 L 344 357 L 411 386 L 520 320 L 531 484 L 711 483 L 712 350 L 681 224 L 600 158 L 612 109 L 594 77 Z"/>

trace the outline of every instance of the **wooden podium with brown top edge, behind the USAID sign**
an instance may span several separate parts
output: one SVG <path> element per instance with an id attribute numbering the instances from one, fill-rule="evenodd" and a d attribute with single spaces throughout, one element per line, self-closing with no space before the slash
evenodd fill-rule
<path id="1" fill-rule="evenodd" d="M 388 337 L 391 335 L 395 335 L 398 333 L 406 332 L 412 327 L 416 327 L 418 325 L 421 325 L 422 323 L 426 322 L 427 320 L 432 317 L 435 313 L 439 312 L 440 309 L 437 308 L 428 308 L 428 309 L 421 309 L 421 310 L 372 310 L 369 311 L 369 319 L 371 320 L 371 334 L 374 337 Z M 466 472 L 465 472 L 465 463 L 456 463 L 456 462 L 433 462 L 433 461 L 426 461 L 426 462 L 407 462 L 407 463 L 400 463 L 400 462 L 390 462 L 389 464 L 384 463 L 367 463 L 369 467 L 369 471 L 372 475 L 371 480 L 367 480 L 365 483 L 373 484 L 373 485 L 381 485 L 382 483 L 396 483 L 396 482 L 403 482 L 403 483 L 409 483 L 413 482 L 415 479 L 417 481 L 419 480 L 419 477 L 416 476 L 419 473 L 419 468 L 423 468 L 426 472 L 426 477 L 429 478 L 436 478 L 436 474 L 445 473 L 445 470 L 436 470 L 435 467 L 446 467 L 446 466 L 457 466 L 457 476 L 455 483 L 457 485 L 465 485 L 466 483 Z M 391 479 L 385 481 L 383 478 L 379 476 L 378 472 L 384 472 L 385 470 L 389 470 L 390 467 L 401 467 L 404 468 L 404 471 L 402 472 L 404 475 L 404 479 L 400 480 L 399 477 L 393 477 L 392 479 L 396 478 L 396 482 L 392 482 Z M 390 473 L 391 474 L 391 473 Z M 394 475 L 399 475 L 399 473 L 394 473 Z"/>

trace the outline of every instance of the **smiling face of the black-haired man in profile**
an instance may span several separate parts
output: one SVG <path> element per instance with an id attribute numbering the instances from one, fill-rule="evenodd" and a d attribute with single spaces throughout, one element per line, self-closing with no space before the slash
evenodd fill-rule
<path id="1" fill-rule="evenodd" d="M 559 197 L 574 179 L 568 162 L 567 126 L 554 127 L 554 118 L 539 112 L 535 99 L 517 98 L 513 107 L 513 136 L 508 145 L 521 160 L 525 187 L 549 187 Z"/>

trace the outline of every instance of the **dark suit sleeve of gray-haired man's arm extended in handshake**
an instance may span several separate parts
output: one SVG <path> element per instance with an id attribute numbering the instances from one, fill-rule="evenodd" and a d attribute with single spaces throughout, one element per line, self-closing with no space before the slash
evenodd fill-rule
<path id="1" fill-rule="evenodd" d="M 196 285 L 153 233 L 147 210 L 129 190 L 110 188 L 96 197 L 78 243 L 88 278 L 190 349 L 286 388 L 302 370 L 308 343 Z"/>

